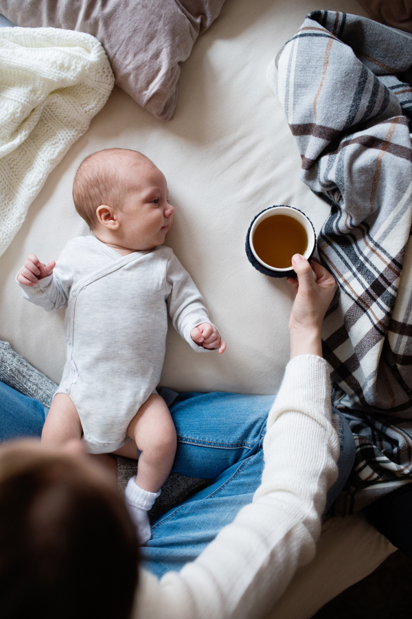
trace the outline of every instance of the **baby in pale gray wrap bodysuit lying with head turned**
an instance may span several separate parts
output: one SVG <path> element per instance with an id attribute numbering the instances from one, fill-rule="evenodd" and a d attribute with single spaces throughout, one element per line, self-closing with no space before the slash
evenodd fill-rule
<path id="1" fill-rule="evenodd" d="M 66 307 L 67 361 L 42 442 L 83 440 L 90 453 L 137 458 L 126 502 L 141 543 L 148 510 L 174 460 L 176 431 L 156 393 L 167 313 L 194 350 L 226 344 L 209 322 L 190 275 L 163 245 L 174 207 L 166 179 L 135 150 L 109 148 L 84 159 L 73 183 L 90 236 L 67 243 L 58 262 L 33 254 L 17 275 L 23 296 L 45 310 Z"/>

